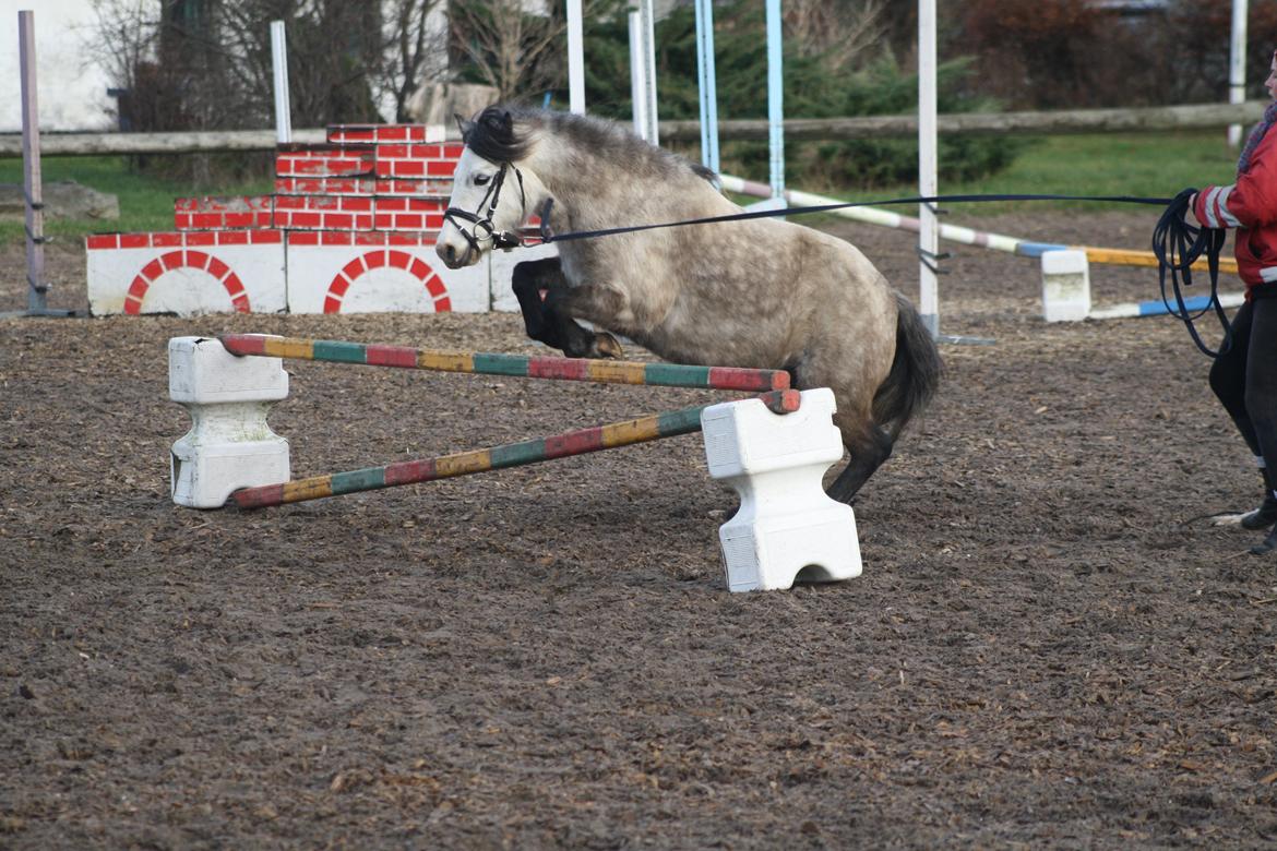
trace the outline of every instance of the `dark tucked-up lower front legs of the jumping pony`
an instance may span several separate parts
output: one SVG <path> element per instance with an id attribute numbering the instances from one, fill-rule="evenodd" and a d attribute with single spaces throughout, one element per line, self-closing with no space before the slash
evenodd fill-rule
<path id="1" fill-rule="evenodd" d="M 607 332 L 591 332 L 572 318 L 578 290 L 568 286 L 558 258 L 527 260 L 515 267 L 511 288 L 518 299 L 524 329 L 533 339 L 568 357 L 621 357 L 621 343 Z M 585 290 L 593 290 L 585 287 Z M 545 293 L 544 296 L 541 293 Z"/>

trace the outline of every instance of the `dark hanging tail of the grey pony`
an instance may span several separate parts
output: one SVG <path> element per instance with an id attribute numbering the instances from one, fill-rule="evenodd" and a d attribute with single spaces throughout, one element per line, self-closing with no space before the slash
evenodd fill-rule
<path id="1" fill-rule="evenodd" d="M 913 415 L 927 407 L 944 374 L 936 341 L 922 316 L 899 292 L 895 302 L 895 359 L 886 380 L 873 394 L 872 407 L 873 421 L 888 429 L 891 440 L 900 435 Z"/>

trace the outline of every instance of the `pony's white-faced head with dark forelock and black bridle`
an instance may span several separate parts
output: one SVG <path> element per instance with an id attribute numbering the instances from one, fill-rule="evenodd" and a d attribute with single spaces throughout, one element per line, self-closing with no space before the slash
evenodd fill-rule
<path id="1" fill-rule="evenodd" d="M 518 245 L 517 228 L 541 191 L 535 175 L 517 165 L 531 139 L 516 133 L 513 115 L 488 107 L 462 121 L 465 151 L 453 172 L 452 196 L 434 250 L 451 269 L 474 265 L 494 248 Z"/>

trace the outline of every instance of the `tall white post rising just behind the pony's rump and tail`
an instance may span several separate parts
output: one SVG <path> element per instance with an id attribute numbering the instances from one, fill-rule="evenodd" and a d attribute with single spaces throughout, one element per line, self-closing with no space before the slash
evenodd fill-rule
<path id="1" fill-rule="evenodd" d="M 936 195 L 936 0 L 918 0 L 918 194 Z M 940 223 L 935 207 L 918 205 L 919 310 L 932 337 L 940 336 L 940 293 L 936 263 Z"/>

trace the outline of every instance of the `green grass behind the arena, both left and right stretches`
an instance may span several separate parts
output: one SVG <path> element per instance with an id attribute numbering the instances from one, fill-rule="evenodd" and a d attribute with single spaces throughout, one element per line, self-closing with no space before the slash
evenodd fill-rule
<path id="1" fill-rule="evenodd" d="M 1069 194 L 1171 196 L 1185 186 L 1231 182 L 1236 152 L 1223 129 L 1122 135 L 1060 135 L 1029 139 L 1006 171 L 983 180 L 940 185 L 942 194 Z M 254 195 L 269 193 L 263 177 L 235 185 L 197 185 L 130 172 L 123 157 L 46 157 L 45 181 L 75 180 L 120 199 L 117 221 L 57 219 L 46 232 L 75 241 L 97 231 L 163 231 L 172 228 L 172 200 L 184 195 Z M 766 175 L 742 175 L 766 180 Z M 0 159 L 0 182 L 22 182 L 22 161 Z M 803 186 L 794 184 L 794 189 Z M 822 193 L 847 200 L 913 196 L 917 186 L 891 186 L 867 193 Z M 755 199 L 742 199 L 744 202 Z M 1057 209 L 1094 211 L 1121 205 L 1093 202 L 1046 202 Z M 1042 202 L 946 204 L 963 219 L 1031 211 Z M 896 208 L 913 214 L 911 208 Z M 813 219 L 819 221 L 819 219 Z M 0 222 L 0 241 L 23 239 L 22 222 Z"/>

